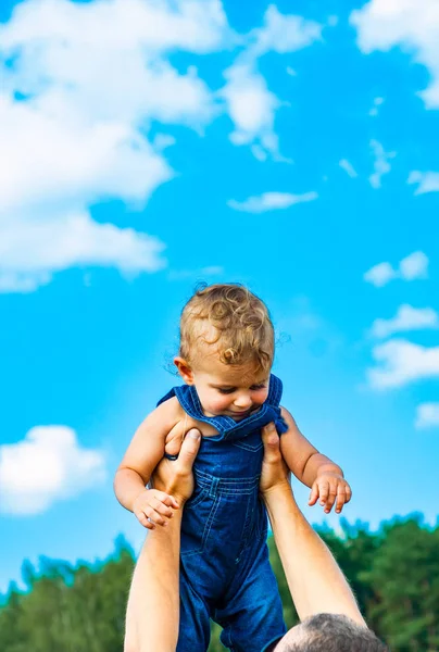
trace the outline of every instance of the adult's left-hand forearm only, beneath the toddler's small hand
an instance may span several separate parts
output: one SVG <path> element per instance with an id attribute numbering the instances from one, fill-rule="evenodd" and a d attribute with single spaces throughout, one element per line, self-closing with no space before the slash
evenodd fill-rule
<path id="1" fill-rule="evenodd" d="M 140 552 L 129 592 L 126 650 L 175 652 L 179 626 L 179 550 L 183 506 L 167 527 L 151 530 Z"/>

